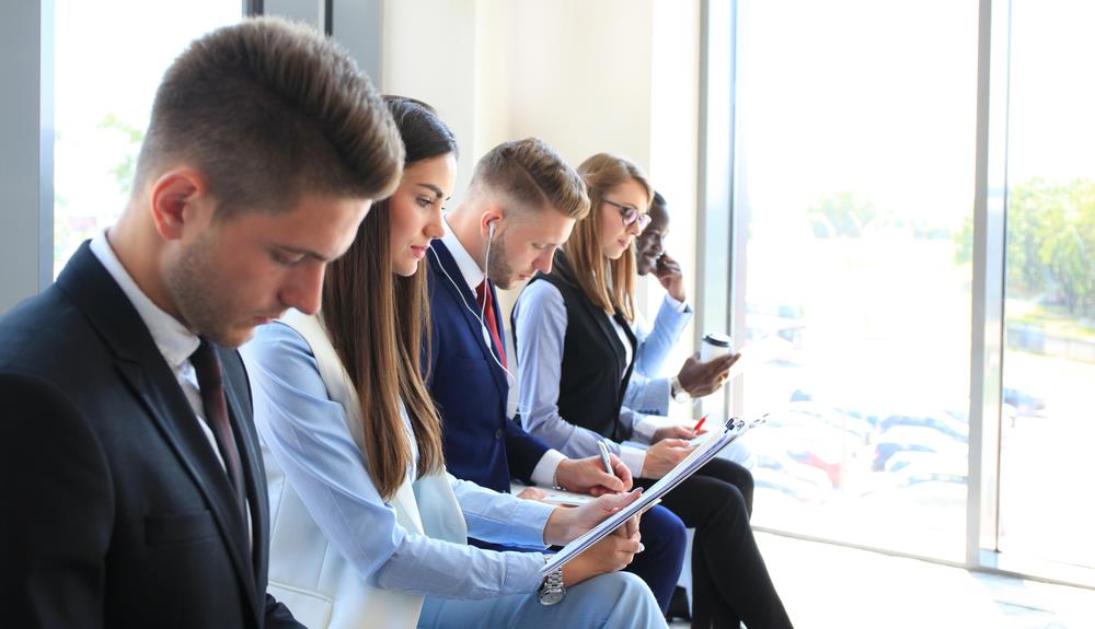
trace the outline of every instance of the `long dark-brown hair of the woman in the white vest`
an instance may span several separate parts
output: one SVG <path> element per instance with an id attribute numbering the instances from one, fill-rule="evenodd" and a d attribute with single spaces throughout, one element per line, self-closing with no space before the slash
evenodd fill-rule
<path id="1" fill-rule="evenodd" d="M 457 152 L 452 132 L 428 105 L 397 96 L 384 101 L 406 144 L 407 164 Z M 441 421 L 423 382 L 430 343 L 426 265 L 411 277 L 395 276 L 390 226 L 385 199 L 372 206 L 346 255 L 327 267 L 320 315 L 357 389 L 369 473 L 384 500 L 395 496 L 412 463 L 400 399 L 418 446 L 418 476 L 445 466 Z"/>

